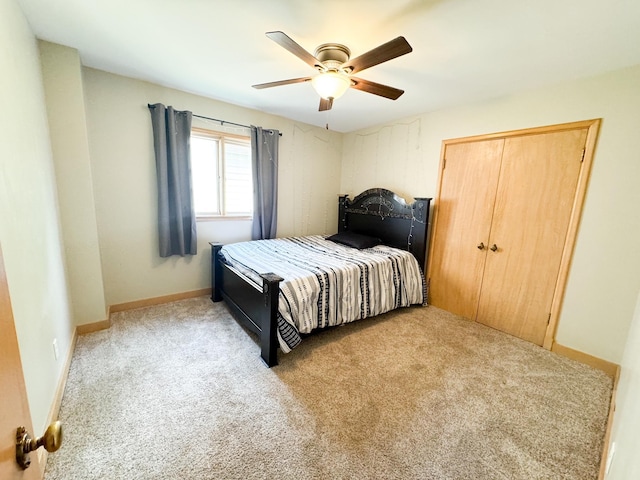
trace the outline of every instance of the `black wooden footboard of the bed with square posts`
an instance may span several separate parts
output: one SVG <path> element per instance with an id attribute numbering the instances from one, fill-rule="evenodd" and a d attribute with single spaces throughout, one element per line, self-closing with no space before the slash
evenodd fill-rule
<path id="1" fill-rule="evenodd" d="M 260 357 L 268 367 L 278 364 L 278 294 L 282 278 L 262 274 L 262 290 L 220 260 L 221 243 L 211 242 L 211 300 L 224 300 L 236 320 L 260 339 Z"/>

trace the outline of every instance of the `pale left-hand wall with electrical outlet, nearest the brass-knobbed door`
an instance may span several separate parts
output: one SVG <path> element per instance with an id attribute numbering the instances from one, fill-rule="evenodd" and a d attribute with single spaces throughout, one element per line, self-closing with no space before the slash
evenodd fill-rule
<path id="1" fill-rule="evenodd" d="M 38 48 L 13 0 L 0 0 L 0 72 L 0 243 L 33 427 L 41 434 L 74 326 Z"/>

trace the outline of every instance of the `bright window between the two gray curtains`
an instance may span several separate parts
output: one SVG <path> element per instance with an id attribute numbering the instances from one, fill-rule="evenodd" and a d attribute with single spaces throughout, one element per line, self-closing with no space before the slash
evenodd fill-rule
<path id="1" fill-rule="evenodd" d="M 197 217 L 247 217 L 253 213 L 249 137 L 191 130 L 191 176 Z"/>

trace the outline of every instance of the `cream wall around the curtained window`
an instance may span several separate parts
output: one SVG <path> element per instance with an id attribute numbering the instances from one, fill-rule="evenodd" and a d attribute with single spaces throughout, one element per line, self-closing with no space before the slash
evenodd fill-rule
<path id="1" fill-rule="evenodd" d="M 207 288 L 211 283 L 208 242 L 250 239 L 247 221 L 198 222 L 196 256 L 159 257 L 148 103 L 160 102 L 202 116 L 280 130 L 278 235 L 337 230 L 340 134 L 99 70 L 86 68 L 83 73 L 98 236 L 109 305 Z M 221 128 L 199 119 L 194 119 L 194 125 Z M 248 135 L 246 129 L 228 131 Z"/>

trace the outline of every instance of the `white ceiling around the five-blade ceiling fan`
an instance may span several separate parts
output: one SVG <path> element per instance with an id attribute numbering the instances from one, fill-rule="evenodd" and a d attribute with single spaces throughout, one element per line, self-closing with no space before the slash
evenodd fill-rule
<path id="1" fill-rule="evenodd" d="M 86 66 L 341 132 L 640 64 L 640 0 L 18 3 L 38 38 L 78 49 Z M 413 52 L 358 76 L 405 94 L 350 89 L 318 112 L 309 83 L 253 89 L 315 72 L 273 30 L 310 53 L 342 43 L 352 58 L 402 35 Z"/>

